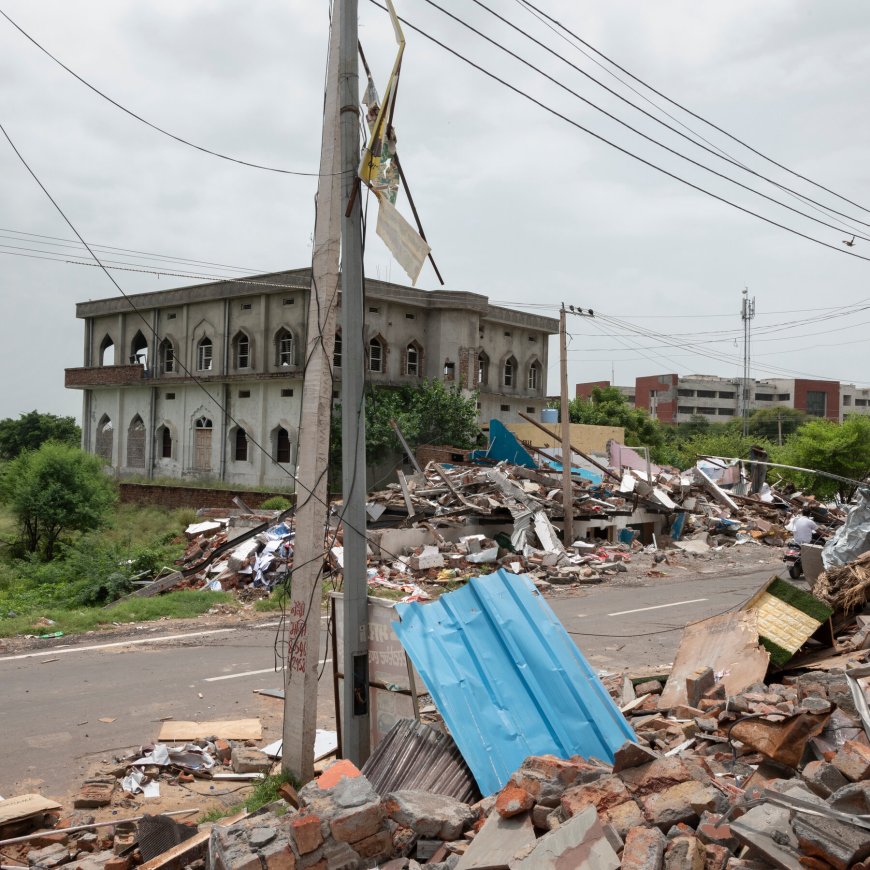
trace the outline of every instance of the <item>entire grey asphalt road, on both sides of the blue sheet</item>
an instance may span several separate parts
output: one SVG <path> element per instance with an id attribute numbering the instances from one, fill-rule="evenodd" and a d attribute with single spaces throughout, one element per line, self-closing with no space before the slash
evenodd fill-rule
<path id="1" fill-rule="evenodd" d="M 770 575 L 766 567 L 691 580 L 644 578 L 550 604 L 593 667 L 655 671 L 672 661 L 687 622 L 739 604 Z M 131 640 L 88 638 L 0 656 L 0 795 L 63 797 L 95 761 L 154 740 L 165 717 L 258 716 L 264 736 L 278 739 L 282 702 L 254 694 L 282 685 L 272 669 L 275 626 L 173 633 L 145 624 Z M 322 645 L 322 659 L 324 652 Z M 320 683 L 318 722 L 334 727 L 331 661 Z"/>

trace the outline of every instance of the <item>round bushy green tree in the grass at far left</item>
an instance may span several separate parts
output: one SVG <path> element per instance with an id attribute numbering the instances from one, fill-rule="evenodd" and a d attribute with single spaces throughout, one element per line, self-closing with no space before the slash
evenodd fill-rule
<path id="1" fill-rule="evenodd" d="M 49 441 L 5 465 L 0 498 L 18 522 L 23 549 L 48 561 L 62 534 L 100 528 L 117 492 L 96 456 Z"/>

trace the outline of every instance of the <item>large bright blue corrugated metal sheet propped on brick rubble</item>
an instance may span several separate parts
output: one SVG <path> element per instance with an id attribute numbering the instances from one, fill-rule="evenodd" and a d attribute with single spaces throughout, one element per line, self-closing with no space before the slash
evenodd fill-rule
<path id="1" fill-rule="evenodd" d="M 396 610 L 396 634 L 483 794 L 501 788 L 529 755 L 612 761 L 634 739 L 525 575 L 501 569 Z"/>

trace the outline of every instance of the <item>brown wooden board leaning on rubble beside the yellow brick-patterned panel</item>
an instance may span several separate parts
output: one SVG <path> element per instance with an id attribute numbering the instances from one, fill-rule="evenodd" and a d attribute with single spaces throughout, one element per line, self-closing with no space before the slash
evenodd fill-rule
<path id="1" fill-rule="evenodd" d="M 686 677 L 699 667 L 710 667 L 726 693 L 760 683 L 767 673 L 770 654 L 758 640 L 752 611 L 730 611 L 692 622 L 683 631 L 671 675 L 659 696 L 659 710 L 689 704 Z"/>

